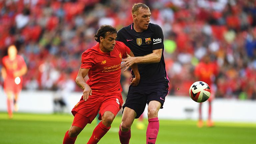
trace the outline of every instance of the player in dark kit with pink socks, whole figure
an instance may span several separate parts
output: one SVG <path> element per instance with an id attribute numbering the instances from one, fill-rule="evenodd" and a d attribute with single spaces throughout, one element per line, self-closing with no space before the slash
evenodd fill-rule
<path id="1" fill-rule="evenodd" d="M 121 144 L 128 144 L 131 138 L 131 125 L 139 118 L 148 104 L 148 127 L 146 143 L 155 144 L 159 131 L 158 111 L 163 108 L 168 94 L 169 79 L 165 70 L 163 56 L 163 31 L 160 26 L 149 23 L 151 12 L 143 3 L 132 7 L 133 23 L 117 33 L 122 41 L 134 53 L 127 57 L 121 68 L 138 64 L 140 83 L 130 85 L 127 99 L 123 105 L 122 122 L 119 129 Z"/>

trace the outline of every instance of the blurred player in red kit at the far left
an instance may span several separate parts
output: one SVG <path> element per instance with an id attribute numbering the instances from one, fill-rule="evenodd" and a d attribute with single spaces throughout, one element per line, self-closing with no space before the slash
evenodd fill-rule
<path id="1" fill-rule="evenodd" d="M 12 115 L 12 105 L 18 111 L 18 98 L 22 89 L 22 76 L 27 72 L 27 65 L 22 56 L 17 55 L 14 45 L 8 47 L 8 55 L 3 57 L 1 73 L 4 79 L 4 91 L 7 95 L 7 112 Z"/>

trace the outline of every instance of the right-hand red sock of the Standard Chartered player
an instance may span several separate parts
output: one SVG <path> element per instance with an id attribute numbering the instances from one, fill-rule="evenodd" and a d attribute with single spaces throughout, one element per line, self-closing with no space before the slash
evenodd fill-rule
<path id="1" fill-rule="evenodd" d="M 108 132 L 110 127 L 106 127 L 103 125 L 102 121 L 96 126 L 96 128 L 92 132 L 92 136 L 89 139 L 87 144 L 96 144 L 100 141 L 100 139 Z"/>

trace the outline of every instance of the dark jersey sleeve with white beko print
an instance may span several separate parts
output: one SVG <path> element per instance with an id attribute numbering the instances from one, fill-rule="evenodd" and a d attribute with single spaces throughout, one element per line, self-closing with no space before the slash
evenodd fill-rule
<path id="1" fill-rule="evenodd" d="M 152 38 L 153 38 L 152 50 L 162 49 L 164 46 L 163 44 L 164 35 L 163 35 L 162 28 L 159 25 L 156 25 Z"/>

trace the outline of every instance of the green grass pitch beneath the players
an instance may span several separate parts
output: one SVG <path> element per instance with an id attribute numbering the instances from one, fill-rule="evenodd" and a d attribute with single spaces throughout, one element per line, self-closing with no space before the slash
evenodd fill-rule
<path id="1" fill-rule="evenodd" d="M 73 116 L 69 114 L 0 113 L 0 144 L 62 144 Z M 99 144 L 119 144 L 118 130 L 121 117 L 117 116 L 109 132 Z M 147 124 L 147 120 L 144 121 Z M 198 128 L 192 120 L 160 119 L 156 144 L 255 144 L 256 123 L 215 122 L 215 127 Z M 132 126 L 130 144 L 145 144 L 146 129 Z M 80 133 L 76 144 L 85 144 L 90 138 L 96 121 Z"/>

